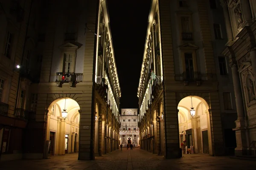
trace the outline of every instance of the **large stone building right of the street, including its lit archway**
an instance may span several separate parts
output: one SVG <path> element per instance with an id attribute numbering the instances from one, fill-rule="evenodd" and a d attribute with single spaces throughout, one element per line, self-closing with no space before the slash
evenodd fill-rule
<path id="1" fill-rule="evenodd" d="M 142 149 L 180 158 L 185 142 L 188 153 L 234 152 L 236 102 L 221 16 L 218 0 L 152 1 L 137 94 Z"/>

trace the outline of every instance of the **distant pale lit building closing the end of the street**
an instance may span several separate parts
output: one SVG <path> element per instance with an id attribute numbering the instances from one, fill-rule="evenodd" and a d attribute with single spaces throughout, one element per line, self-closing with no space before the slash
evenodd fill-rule
<path id="1" fill-rule="evenodd" d="M 125 147 L 128 139 L 131 139 L 131 144 L 138 146 L 140 142 L 140 130 L 138 127 L 138 109 L 121 109 L 120 116 L 120 144 Z"/>

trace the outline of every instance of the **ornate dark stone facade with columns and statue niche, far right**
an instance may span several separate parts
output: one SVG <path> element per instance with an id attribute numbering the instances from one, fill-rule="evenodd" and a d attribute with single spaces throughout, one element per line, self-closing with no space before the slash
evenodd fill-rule
<path id="1" fill-rule="evenodd" d="M 223 55 L 232 68 L 237 105 L 236 155 L 250 155 L 256 142 L 256 2 L 221 0 L 221 5 L 228 37 Z"/>

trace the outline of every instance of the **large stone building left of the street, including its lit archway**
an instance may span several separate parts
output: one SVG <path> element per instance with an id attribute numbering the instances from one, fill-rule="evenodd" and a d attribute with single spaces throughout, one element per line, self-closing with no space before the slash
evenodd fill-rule
<path id="1" fill-rule="evenodd" d="M 9 83 L 2 101 L 9 104 L 5 119 L 18 118 L 15 123 L 22 127 L 0 123 L 0 139 L 7 146 L 1 161 L 74 152 L 87 160 L 116 150 L 121 90 L 106 1 L 15 2 L 25 10 L 17 26 L 11 19 L 19 11 L 9 17 L 10 4 L 0 8 L 6 32 L 0 42 L 16 50 L 10 61 L 1 51 L 1 61 L 12 69 L 10 79 L 1 73 Z M 15 39 L 10 40 L 13 30 Z"/>

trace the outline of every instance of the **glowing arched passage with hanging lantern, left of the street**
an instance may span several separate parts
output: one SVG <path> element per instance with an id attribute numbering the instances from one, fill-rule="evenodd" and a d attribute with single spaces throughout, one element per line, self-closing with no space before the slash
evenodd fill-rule
<path id="1" fill-rule="evenodd" d="M 62 115 L 66 110 L 67 117 Z M 78 152 L 79 104 L 70 98 L 54 100 L 48 108 L 47 141 L 52 156 Z"/>

